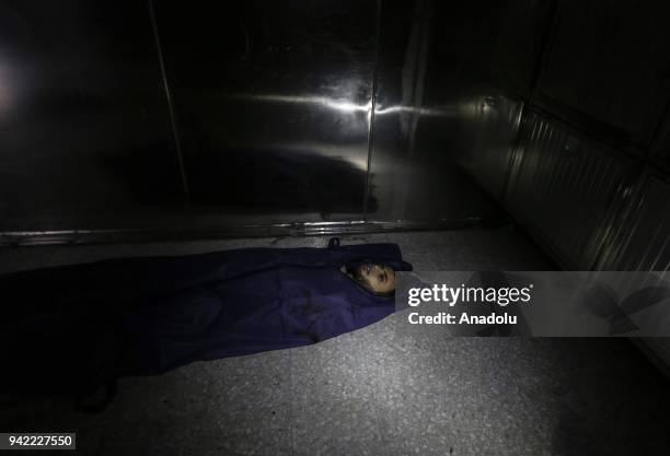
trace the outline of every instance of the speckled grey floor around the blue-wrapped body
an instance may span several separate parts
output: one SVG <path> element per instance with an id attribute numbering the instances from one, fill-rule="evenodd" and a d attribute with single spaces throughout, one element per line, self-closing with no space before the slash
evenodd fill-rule
<path id="1" fill-rule="evenodd" d="M 4 249 L 0 272 L 326 242 Z M 343 237 L 360 242 L 400 244 L 416 270 L 553 269 L 511 227 Z M 125 378 L 100 414 L 4 396 L 0 431 L 77 432 L 86 455 L 668 455 L 670 384 L 627 340 L 446 338 L 402 323 Z"/>

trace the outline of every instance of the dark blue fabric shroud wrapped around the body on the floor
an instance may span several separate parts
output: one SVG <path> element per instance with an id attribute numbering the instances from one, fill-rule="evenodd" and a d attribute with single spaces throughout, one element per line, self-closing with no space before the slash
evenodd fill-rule
<path id="1" fill-rule="evenodd" d="M 245 248 L 0 276 L 5 389 L 92 390 L 197 360 L 315 343 L 394 308 L 339 268 L 411 270 L 395 244 Z"/>

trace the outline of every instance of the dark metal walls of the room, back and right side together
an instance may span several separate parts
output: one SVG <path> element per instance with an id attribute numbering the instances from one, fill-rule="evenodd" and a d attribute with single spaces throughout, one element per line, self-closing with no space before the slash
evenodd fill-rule
<path id="1" fill-rule="evenodd" d="M 669 8 L 2 0 L 0 242 L 511 217 L 565 267 L 665 268 Z"/>

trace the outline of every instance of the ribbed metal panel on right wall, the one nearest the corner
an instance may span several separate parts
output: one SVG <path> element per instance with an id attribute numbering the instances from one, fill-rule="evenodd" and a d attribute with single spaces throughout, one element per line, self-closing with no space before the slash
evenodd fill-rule
<path id="1" fill-rule="evenodd" d="M 515 156 L 507 204 L 564 266 L 589 270 L 633 175 L 628 159 L 533 112 Z"/>

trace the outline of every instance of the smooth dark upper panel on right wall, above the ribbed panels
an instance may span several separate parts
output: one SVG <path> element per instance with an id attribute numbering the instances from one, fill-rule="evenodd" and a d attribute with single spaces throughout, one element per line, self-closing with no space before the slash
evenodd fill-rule
<path id="1" fill-rule="evenodd" d="M 662 0 L 559 1 L 542 106 L 642 153 L 670 98 L 668 17 Z"/>

